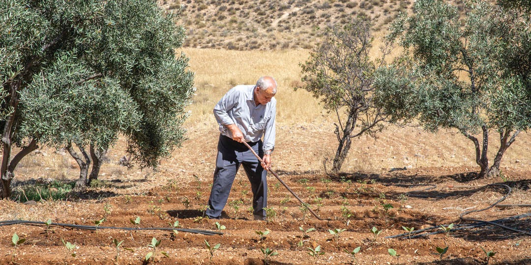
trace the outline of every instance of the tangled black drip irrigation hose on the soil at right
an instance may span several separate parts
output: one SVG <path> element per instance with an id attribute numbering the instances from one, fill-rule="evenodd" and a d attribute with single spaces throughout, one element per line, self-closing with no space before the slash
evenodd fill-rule
<path id="1" fill-rule="evenodd" d="M 413 184 L 413 185 L 397 184 L 397 186 L 402 186 L 402 187 L 403 186 L 413 187 L 413 186 L 416 186 L 416 185 L 427 185 L 427 184 Z M 464 217 L 465 215 L 468 215 L 470 213 L 477 213 L 478 211 L 484 211 L 484 210 L 487 210 L 487 209 L 490 209 L 490 208 L 496 206 L 497 204 L 499 204 L 500 202 L 505 200 L 507 198 L 507 196 L 509 196 L 511 191 L 512 191 L 511 187 L 509 187 L 508 185 L 499 184 L 499 183 L 485 185 L 485 186 L 479 188 L 478 191 L 479 190 L 484 190 L 484 189 L 489 188 L 489 187 L 494 186 L 494 185 L 498 185 L 498 186 L 502 186 L 503 188 L 506 188 L 507 189 L 507 194 L 504 195 L 502 198 L 500 198 L 498 201 L 494 202 L 494 204 L 490 205 L 489 207 L 486 207 L 486 208 L 483 208 L 483 209 L 479 209 L 479 210 L 469 210 L 469 211 L 465 211 L 464 213 L 461 213 L 459 215 L 459 218 L 461 220 L 468 221 L 468 222 L 473 222 L 473 223 L 471 223 L 471 224 L 457 224 L 457 225 L 454 225 L 455 228 L 450 229 L 448 232 L 459 231 L 459 230 L 463 230 L 463 229 L 471 229 L 471 228 L 476 228 L 476 227 L 484 226 L 484 225 L 494 225 L 494 226 L 501 227 L 503 229 L 508 229 L 510 231 L 513 231 L 513 232 L 523 233 L 523 234 L 526 234 L 526 235 L 531 235 L 531 232 L 522 231 L 522 230 L 519 230 L 519 229 L 516 229 L 516 228 L 512 228 L 512 227 L 509 227 L 509 226 L 498 224 L 498 222 L 502 222 L 502 221 L 506 221 L 506 220 L 516 220 L 516 219 L 520 219 L 520 218 L 529 217 L 529 216 L 531 216 L 531 213 L 522 214 L 522 215 L 515 215 L 515 216 L 502 218 L 502 219 L 497 219 L 497 220 L 491 220 L 491 221 L 471 219 L 471 218 L 465 218 Z M 435 188 L 435 187 L 433 187 L 433 188 Z M 433 189 L 433 188 L 430 188 L 430 189 Z M 424 189 L 424 190 L 426 190 L 426 189 Z M 424 190 L 422 190 L 422 191 L 424 191 Z M 418 192 L 418 191 L 410 191 L 408 193 L 413 193 L 413 192 Z M 408 195 L 408 196 L 410 196 L 410 195 Z M 448 225 L 441 225 L 441 226 L 448 227 Z M 413 232 L 410 232 L 410 233 L 404 233 L 404 234 L 393 235 L 393 236 L 386 236 L 385 238 L 416 238 L 416 237 L 423 237 L 423 236 L 427 236 L 427 235 L 446 233 L 447 231 L 442 231 L 441 230 L 441 231 L 421 234 L 422 232 L 425 232 L 425 231 L 430 231 L 430 230 L 433 230 L 433 229 L 441 228 L 441 226 L 427 227 L 427 228 L 419 229 L 419 230 L 416 230 L 416 231 L 413 231 Z"/>

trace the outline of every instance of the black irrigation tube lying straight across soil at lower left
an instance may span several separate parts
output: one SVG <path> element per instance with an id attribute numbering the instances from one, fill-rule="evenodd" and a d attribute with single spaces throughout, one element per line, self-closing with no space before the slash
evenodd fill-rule
<path id="1" fill-rule="evenodd" d="M 5 225 L 18 225 L 18 224 L 31 224 L 31 225 L 48 225 L 45 222 L 38 221 L 29 221 L 29 220 L 5 220 L 0 221 L 0 226 Z M 126 231 L 138 231 L 138 230 L 165 230 L 165 231 L 179 231 L 185 233 L 195 233 L 203 235 L 222 235 L 223 233 L 202 230 L 202 229 L 191 229 L 191 228 L 174 228 L 174 227 L 116 227 L 116 226 L 92 226 L 92 225 L 75 225 L 75 224 L 62 224 L 62 223 L 51 223 L 50 226 L 63 226 L 76 229 L 84 230 L 97 230 L 97 229 L 120 229 Z"/>

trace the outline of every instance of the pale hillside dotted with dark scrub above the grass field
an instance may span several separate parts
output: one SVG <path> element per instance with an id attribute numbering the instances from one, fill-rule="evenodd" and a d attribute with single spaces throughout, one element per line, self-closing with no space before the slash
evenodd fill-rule
<path id="1" fill-rule="evenodd" d="M 185 47 L 230 50 L 311 49 L 323 29 L 363 15 L 375 33 L 387 29 L 412 1 L 398 0 L 163 0 L 168 11 L 183 9 Z"/>

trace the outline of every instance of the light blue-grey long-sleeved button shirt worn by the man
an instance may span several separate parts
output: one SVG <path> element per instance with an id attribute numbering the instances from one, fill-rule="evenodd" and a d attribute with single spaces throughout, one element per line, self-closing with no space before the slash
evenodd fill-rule
<path id="1" fill-rule="evenodd" d="M 254 85 L 237 85 L 230 89 L 214 107 L 214 116 L 222 135 L 232 138 L 224 125 L 235 124 L 242 131 L 245 142 L 258 142 L 263 135 L 263 150 L 275 147 L 275 115 L 277 100 L 265 105 L 254 103 Z"/>

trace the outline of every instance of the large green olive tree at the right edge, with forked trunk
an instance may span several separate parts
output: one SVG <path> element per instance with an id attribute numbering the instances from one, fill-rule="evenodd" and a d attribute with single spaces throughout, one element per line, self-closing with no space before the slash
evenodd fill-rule
<path id="1" fill-rule="evenodd" d="M 388 38 L 404 54 L 378 70 L 376 101 L 392 122 L 457 129 L 474 144 L 483 177 L 499 174 L 504 152 L 531 125 L 529 67 L 508 67 L 515 50 L 529 51 L 529 23 L 488 2 L 467 8 L 461 17 L 442 0 L 417 0 L 414 14 L 397 17 Z M 500 147 L 489 167 L 491 131 Z"/>

